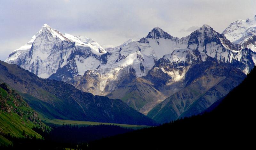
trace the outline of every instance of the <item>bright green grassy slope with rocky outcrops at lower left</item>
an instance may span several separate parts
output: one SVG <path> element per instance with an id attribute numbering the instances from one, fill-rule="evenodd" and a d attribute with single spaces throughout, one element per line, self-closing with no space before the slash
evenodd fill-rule
<path id="1" fill-rule="evenodd" d="M 0 131 L 5 134 L 10 133 L 10 135 L 15 137 L 24 137 L 22 135 L 24 130 L 26 135 L 41 138 L 42 136 L 40 134 L 31 129 L 38 124 L 28 119 L 33 117 L 34 110 L 28 107 L 25 101 L 19 99 L 19 95 L 14 97 L 15 93 L 13 90 L 12 94 L 8 94 L 6 90 L 0 87 L 0 100 L 2 105 L 2 110 L 0 110 Z"/>

